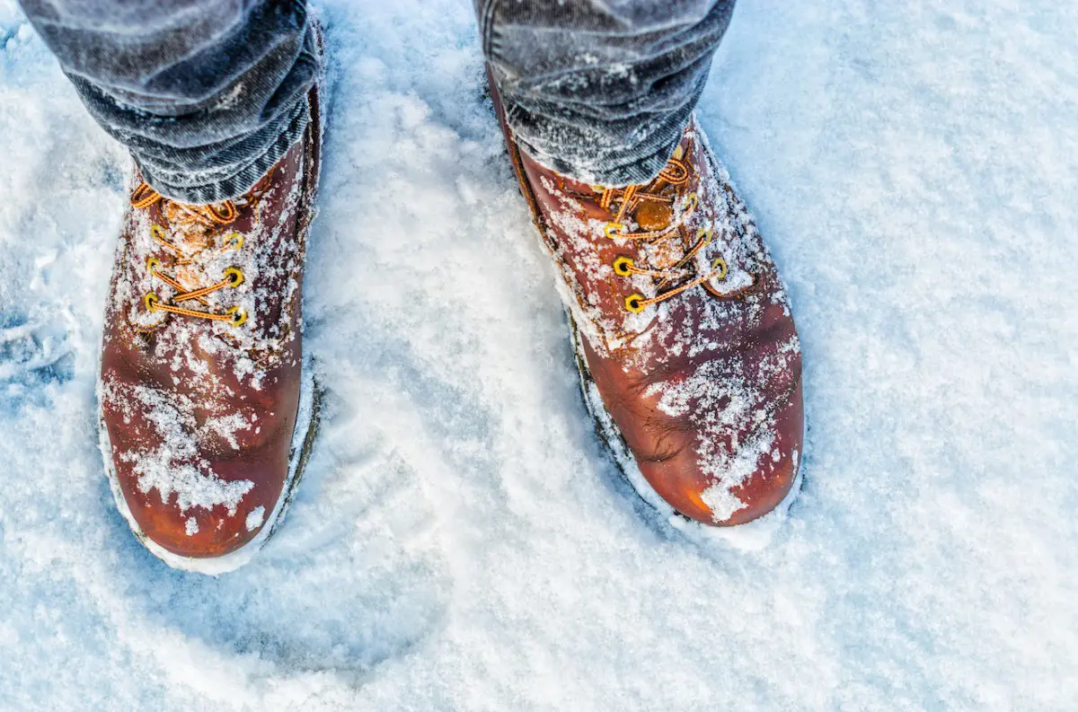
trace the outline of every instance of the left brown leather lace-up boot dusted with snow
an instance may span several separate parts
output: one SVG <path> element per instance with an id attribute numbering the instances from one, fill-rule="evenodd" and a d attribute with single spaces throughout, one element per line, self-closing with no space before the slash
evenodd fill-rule
<path id="1" fill-rule="evenodd" d="M 306 135 L 243 197 L 163 198 L 135 177 L 105 320 L 101 447 L 136 536 L 221 573 L 280 523 L 317 429 L 301 287 L 318 185 Z"/>

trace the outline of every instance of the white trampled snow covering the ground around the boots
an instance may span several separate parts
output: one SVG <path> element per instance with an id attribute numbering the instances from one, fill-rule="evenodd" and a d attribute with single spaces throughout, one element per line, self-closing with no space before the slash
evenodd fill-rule
<path id="1" fill-rule="evenodd" d="M 760 550 L 668 535 L 594 436 L 469 0 L 320 9 L 329 411 L 213 580 L 113 506 L 130 164 L 0 0 L 0 709 L 1074 709 L 1078 5 L 742 1 L 701 118 L 790 285 L 811 447 Z"/>

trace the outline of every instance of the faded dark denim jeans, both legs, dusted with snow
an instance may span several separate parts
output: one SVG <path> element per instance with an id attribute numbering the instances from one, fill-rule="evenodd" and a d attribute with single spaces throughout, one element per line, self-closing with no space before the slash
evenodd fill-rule
<path id="1" fill-rule="evenodd" d="M 319 71 L 305 0 L 22 3 L 91 114 L 166 197 L 241 195 L 303 135 Z M 662 168 L 733 4 L 475 0 L 517 140 L 604 185 Z"/>

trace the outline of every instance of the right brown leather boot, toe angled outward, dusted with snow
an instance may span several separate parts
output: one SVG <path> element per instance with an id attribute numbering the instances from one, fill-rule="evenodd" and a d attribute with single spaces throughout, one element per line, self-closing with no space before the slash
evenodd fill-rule
<path id="1" fill-rule="evenodd" d="M 766 514 L 798 473 L 801 347 L 771 255 L 695 120 L 654 180 L 610 189 L 533 160 L 492 94 L 562 277 L 585 401 L 623 472 L 646 500 L 650 486 L 703 523 Z"/>

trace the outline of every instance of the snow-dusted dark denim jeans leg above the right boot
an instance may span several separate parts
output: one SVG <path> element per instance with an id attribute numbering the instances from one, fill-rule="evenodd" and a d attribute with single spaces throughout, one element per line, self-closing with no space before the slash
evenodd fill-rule
<path id="1" fill-rule="evenodd" d="M 655 176 L 681 139 L 734 0 L 476 0 L 506 120 L 589 183 Z"/>

